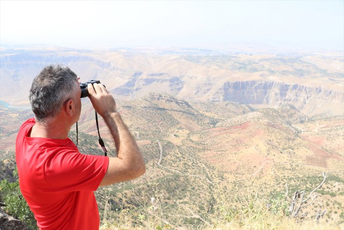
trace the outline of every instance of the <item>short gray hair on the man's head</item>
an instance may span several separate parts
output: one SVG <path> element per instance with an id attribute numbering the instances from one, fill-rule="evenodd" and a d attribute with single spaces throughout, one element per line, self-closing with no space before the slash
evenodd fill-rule
<path id="1" fill-rule="evenodd" d="M 38 121 L 60 113 L 63 103 L 77 90 L 78 77 L 70 68 L 49 65 L 32 82 L 29 99 Z"/>

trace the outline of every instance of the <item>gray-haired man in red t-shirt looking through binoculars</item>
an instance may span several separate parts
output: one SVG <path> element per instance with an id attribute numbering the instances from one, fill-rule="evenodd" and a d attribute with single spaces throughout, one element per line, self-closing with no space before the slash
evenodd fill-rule
<path id="1" fill-rule="evenodd" d="M 34 118 L 22 125 L 15 156 L 20 188 L 40 229 L 99 229 L 93 191 L 145 172 L 139 148 L 101 84 L 89 98 L 113 137 L 118 157 L 81 154 L 68 138 L 81 112 L 79 78 L 68 67 L 47 66 L 31 86 Z"/>

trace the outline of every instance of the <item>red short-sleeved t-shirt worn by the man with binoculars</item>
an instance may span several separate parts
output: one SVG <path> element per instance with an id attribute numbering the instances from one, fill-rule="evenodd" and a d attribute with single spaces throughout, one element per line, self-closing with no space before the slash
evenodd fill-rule
<path id="1" fill-rule="evenodd" d="M 99 229 L 97 190 L 109 163 L 84 155 L 67 139 L 29 137 L 25 121 L 15 143 L 19 184 L 40 229 Z"/>

